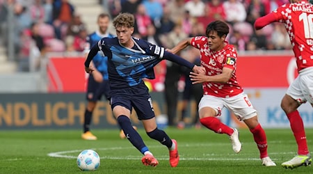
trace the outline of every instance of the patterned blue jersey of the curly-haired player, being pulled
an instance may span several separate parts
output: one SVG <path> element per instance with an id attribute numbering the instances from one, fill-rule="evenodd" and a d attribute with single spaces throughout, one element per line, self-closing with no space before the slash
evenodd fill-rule
<path id="1" fill-rule="evenodd" d="M 102 38 L 98 47 L 108 57 L 110 88 L 127 88 L 154 79 L 153 67 L 163 60 L 165 49 L 145 40 L 131 38 L 134 47 L 120 45 L 118 38 Z"/>

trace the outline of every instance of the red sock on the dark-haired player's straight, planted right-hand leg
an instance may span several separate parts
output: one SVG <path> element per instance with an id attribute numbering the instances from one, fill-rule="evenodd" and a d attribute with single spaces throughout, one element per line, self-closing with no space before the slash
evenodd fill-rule
<path id="1" fill-rule="evenodd" d="M 255 143 L 257 143 L 257 148 L 259 149 L 259 157 L 261 159 L 264 157 L 268 157 L 267 141 L 264 129 L 259 124 L 255 128 L 250 129 L 250 132 L 253 134 L 253 139 L 255 139 Z"/>

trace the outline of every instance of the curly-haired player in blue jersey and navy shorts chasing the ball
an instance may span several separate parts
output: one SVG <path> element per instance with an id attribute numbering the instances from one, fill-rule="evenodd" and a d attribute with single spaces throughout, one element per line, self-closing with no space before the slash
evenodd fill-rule
<path id="1" fill-rule="evenodd" d="M 170 139 L 166 132 L 158 129 L 152 99 L 143 78 L 153 79 L 154 66 L 164 59 L 184 65 L 195 73 L 204 74 L 205 70 L 184 58 L 166 52 L 163 47 L 132 37 L 134 22 L 134 15 L 129 13 L 120 13 L 115 17 L 113 26 L 117 37 L 102 38 L 90 49 L 85 61 L 85 70 L 88 73 L 94 71 L 90 62 L 97 52 L 101 51 L 108 57 L 111 109 L 127 139 L 144 155 L 141 159 L 144 165 L 159 164 L 140 134 L 131 126 L 131 109 L 134 107 L 147 135 L 166 145 L 169 150 L 170 166 L 176 167 L 179 163 L 177 141 Z"/>

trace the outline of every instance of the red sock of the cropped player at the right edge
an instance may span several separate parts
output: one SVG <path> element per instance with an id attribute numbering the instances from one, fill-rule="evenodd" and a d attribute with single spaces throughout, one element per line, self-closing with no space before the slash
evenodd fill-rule
<path id="1" fill-rule="evenodd" d="M 296 110 L 288 113 L 287 117 L 290 122 L 291 130 L 294 132 L 294 138 L 298 144 L 298 155 L 307 155 L 309 153 L 307 149 L 307 137 L 305 136 L 303 120 L 299 112 Z"/>

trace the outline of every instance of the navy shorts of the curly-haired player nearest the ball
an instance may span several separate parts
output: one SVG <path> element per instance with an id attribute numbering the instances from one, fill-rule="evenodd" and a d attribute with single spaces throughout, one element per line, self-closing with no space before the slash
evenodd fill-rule
<path id="1" fill-rule="evenodd" d="M 149 120 L 154 118 L 152 99 L 149 90 L 144 83 L 129 88 L 111 89 L 111 108 L 124 106 L 137 113 L 138 120 Z"/>

